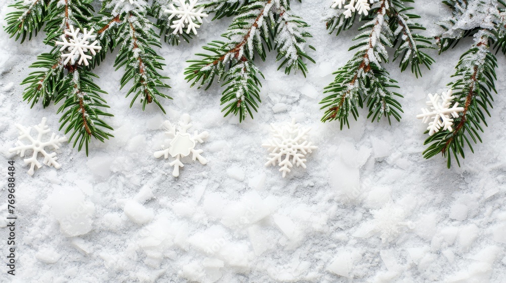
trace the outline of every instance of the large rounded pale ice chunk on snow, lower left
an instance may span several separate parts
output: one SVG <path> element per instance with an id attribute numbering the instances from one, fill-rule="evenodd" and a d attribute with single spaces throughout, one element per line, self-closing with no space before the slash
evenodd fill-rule
<path id="1" fill-rule="evenodd" d="M 67 237 L 83 235 L 92 229 L 95 205 L 85 201 L 80 190 L 72 190 L 54 185 L 49 197 L 49 205 L 54 217 L 60 222 L 61 231 Z"/>

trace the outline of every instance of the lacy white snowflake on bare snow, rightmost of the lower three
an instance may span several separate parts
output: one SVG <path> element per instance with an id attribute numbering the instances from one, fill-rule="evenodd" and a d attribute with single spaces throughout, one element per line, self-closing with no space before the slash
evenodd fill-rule
<path id="1" fill-rule="evenodd" d="M 290 172 L 293 163 L 297 167 L 302 166 L 306 168 L 306 154 L 311 153 L 318 147 L 313 146 L 311 141 L 308 141 L 308 132 L 311 128 L 300 128 L 299 124 L 295 123 L 295 119 L 291 123 L 286 123 L 282 126 L 271 124 L 271 131 L 273 138 L 269 139 L 262 147 L 266 148 L 269 153 L 267 158 L 269 161 L 265 166 L 276 166 L 279 164 L 279 171 L 283 172 L 283 178 L 286 173 Z M 291 161 L 290 161 L 291 158 Z"/>

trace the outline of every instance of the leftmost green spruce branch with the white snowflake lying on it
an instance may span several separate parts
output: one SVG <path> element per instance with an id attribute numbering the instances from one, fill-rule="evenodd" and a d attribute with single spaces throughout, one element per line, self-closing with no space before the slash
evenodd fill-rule
<path id="1" fill-rule="evenodd" d="M 42 4 L 43 3 L 43 4 Z M 44 5 L 44 7 L 38 7 Z M 36 8 L 38 7 L 38 8 Z M 23 80 L 27 87 L 23 99 L 33 107 L 42 101 L 47 107 L 53 101 L 62 102 L 58 113 L 62 113 L 60 129 L 71 132 L 69 142 L 81 150 L 84 146 L 88 153 L 91 137 L 101 141 L 112 136 L 112 130 L 103 120 L 103 116 L 112 116 L 104 111 L 108 108 L 100 97 L 106 93 L 93 83 L 97 77 L 91 72 L 91 55 L 100 52 L 101 46 L 94 40 L 94 30 L 85 28 L 93 17 L 93 7 L 80 0 L 52 1 L 38 4 L 37 0 L 27 6 L 18 6 L 18 11 L 8 15 L 7 31 L 16 39 L 23 34 L 37 32 L 46 24 L 44 31 L 46 44 L 54 46 L 49 53 L 41 54 L 30 67 L 36 71 Z M 19 18 L 14 16 L 19 15 Z M 19 28 L 10 28 L 21 21 Z M 23 25 L 25 25 L 23 27 Z M 90 61 L 89 61 L 90 60 Z"/>

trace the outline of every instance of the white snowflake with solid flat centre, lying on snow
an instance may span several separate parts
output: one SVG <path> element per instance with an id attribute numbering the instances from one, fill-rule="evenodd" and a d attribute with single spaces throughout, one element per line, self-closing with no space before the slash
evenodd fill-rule
<path id="1" fill-rule="evenodd" d="M 206 131 L 201 133 L 195 131 L 193 135 L 187 133 L 188 129 L 192 127 L 190 115 L 184 114 L 181 117 L 181 121 L 179 121 L 178 127 L 173 126 L 169 121 L 165 121 L 164 126 L 167 129 L 167 135 L 171 138 L 171 143 L 168 148 L 155 152 L 154 157 L 160 158 L 163 156 L 167 159 L 170 155 L 176 158 L 170 163 L 174 167 L 174 171 L 172 172 L 174 177 L 179 176 L 179 168 L 184 166 L 181 158 L 190 155 L 190 153 L 192 154 L 193 161 L 198 160 L 202 165 L 207 163 L 207 160 L 200 155 L 204 151 L 196 150 L 195 146 L 202 144 L 209 134 Z"/>

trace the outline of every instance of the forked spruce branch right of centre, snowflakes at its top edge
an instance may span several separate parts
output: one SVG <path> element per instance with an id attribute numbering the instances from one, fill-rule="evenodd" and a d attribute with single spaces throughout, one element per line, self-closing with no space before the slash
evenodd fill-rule
<path id="1" fill-rule="evenodd" d="M 325 87 L 324 92 L 329 95 L 320 102 L 321 109 L 326 109 L 323 122 L 339 120 L 341 129 L 345 125 L 349 127 L 349 114 L 357 119 L 358 107 L 362 108 L 364 101 L 369 108 L 367 118 L 372 116 L 373 121 L 379 121 L 385 116 L 391 122 L 392 116 L 400 120 L 402 109 L 396 97 L 402 96 L 391 90 L 398 87 L 397 82 L 382 66 L 389 62 L 387 48 L 396 48 L 393 61 L 400 59 L 401 71 L 411 66 L 416 76 L 421 76 L 420 65 L 430 68 L 434 62 L 422 51 L 433 48 L 430 38 L 413 33 L 413 30 L 425 28 L 413 21 L 418 16 L 406 13 L 412 8 L 406 7 L 405 2 L 413 1 L 379 0 L 369 6 L 366 0 L 334 0 L 332 8 L 336 10 L 327 18 L 330 33 L 337 30 L 339 34 L 351 28 L 356 14 L 363 14 L 360 20 L 366 23 L 353 39 L 358 42 L 350 48 L 357 52 L 334 73 L 334 81 Z"/>

